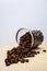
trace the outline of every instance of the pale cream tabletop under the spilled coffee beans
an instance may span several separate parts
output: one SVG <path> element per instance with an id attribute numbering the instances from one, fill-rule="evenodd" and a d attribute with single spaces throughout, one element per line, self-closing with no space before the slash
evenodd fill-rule
<path id="1" fill-rule="evenodd" d="M 5 67 L 4 59 L 7 58 L 7 50 L 10 50 L 15 45 L 0 46 L 0 71 L 47 71 L 47 52 L 43 52 L 44 49 L 47 50 L 47 45 L 42 45 L 37 50 L 40 54 L 36 55 L 34 58 L 28 58 L 27 63 L 16 63 Z"/>

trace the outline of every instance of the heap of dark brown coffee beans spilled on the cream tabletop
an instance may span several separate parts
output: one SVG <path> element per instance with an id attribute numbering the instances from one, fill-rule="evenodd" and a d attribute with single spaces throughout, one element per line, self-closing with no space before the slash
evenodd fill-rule
<path id="1" fill-rule="evenodd" d="M 35 55 L 39 54 L 39 51 L 32 50 L 32 48 L 20 48 L 21 46 L 14 47 L 7 52 L 5 66 L 10 66 L 12 63 L 21 63 L 28 62 L 28 57 L 35 57 Z"/>

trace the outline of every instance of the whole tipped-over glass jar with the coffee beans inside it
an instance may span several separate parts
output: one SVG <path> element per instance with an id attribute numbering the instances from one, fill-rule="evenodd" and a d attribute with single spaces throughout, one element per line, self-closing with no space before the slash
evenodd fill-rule
<path id="1" fill-rule="evenodd" d="M 20 36 L 21 31 L 24 33 L 23 35 Z M 20 37 L 20 39 L 19 39 Z M 28 31 L 26 28 L 20 28 L 16 33 L 16 43 L 19 42 L 19 45 L 24 46 L 24 47 L 31 47 L 31 48 L 36 48 L 39 46 L 44 40 L 44 35 L 40 31 Z"/>

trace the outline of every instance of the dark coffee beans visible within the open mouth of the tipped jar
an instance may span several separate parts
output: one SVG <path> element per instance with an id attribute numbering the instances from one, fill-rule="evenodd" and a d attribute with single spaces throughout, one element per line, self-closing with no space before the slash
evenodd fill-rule
<path id="1" fill-rule="evenodd" d="M 20 44 L 22 48 L 30 48 L 32 46 L 32 36 L 31 33 L 27 32 L 22 37 L 20 37 Z"/>

